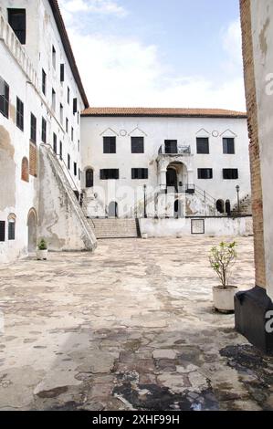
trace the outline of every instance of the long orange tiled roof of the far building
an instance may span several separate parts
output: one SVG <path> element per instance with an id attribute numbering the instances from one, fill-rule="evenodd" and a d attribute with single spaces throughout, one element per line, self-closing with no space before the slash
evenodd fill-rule
<path id="1" fill-rule="evenodd" d="M 194 118 L 247 118 L 244 111 L 224 109 L 88 108 L 82 116 L 153 116 Z"/>

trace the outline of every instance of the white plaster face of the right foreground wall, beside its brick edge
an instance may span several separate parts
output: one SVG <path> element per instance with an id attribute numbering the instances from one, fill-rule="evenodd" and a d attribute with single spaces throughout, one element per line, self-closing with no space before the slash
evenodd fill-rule
<path id="1" fill-rule="evenodd" d="M 256 86 L 260 159 L 260 172 L 253 171 L 253 174 L 261 176 L 260 222 L 263 220 L 264 231 L 263 237 L 261 236 L 263 243 L 257 242 L 260 257 L 256 258 L 256 266 L 257 270 L 265 266 L 265 286 L 269 297 L 273 299 L 273 3 L 271 0 L 251 0 L 250 7 L 255 82 L 249 82 L 249 85 Z"/>

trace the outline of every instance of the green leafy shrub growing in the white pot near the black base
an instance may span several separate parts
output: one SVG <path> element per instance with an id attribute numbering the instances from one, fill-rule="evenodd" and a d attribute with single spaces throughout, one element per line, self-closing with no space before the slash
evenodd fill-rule
<path id="1" fill-rule="evenodd" d="M 229 286 L 231 269 L 236 263 L 236 246 L 235 241 L 233 243 L 222 242 L 219 246 L 213 247 L 210 251 L 210 265 L 220 278 L 222 288 L 228 288 Z"/>

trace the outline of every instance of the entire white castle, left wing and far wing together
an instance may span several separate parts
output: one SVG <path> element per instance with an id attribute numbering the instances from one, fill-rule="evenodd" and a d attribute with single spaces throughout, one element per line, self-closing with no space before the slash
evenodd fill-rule
<path id="1" fill-rule="evenodd" d="M 57 0 L 0 0 L 0 58 L 0 263 L 40 238 L 247 233 L 245 113 L 89 108 Z"/>

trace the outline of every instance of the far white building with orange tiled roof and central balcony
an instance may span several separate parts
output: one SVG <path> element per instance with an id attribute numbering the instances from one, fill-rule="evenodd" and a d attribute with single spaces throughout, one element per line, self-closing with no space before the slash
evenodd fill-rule
<path id="1" fill-rule="evenodd" d="M 238 210 L 238 192 L 240 214 L 250 214 L 246 113 L 89 108 L 81 156 L 89 217 L 223 217 Z M 152 224 L 156 235 L 181 229 L 170 220 Z"/>

